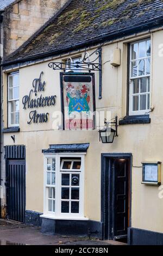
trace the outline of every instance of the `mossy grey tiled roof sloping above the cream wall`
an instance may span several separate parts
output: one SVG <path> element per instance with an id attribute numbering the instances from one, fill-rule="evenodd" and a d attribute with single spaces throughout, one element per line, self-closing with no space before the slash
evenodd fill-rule
<path id="1" fill-rule="evenodd" d="M 69 0 L 3 65 L 54 56 L 163 25 L 163 0 Z"/>

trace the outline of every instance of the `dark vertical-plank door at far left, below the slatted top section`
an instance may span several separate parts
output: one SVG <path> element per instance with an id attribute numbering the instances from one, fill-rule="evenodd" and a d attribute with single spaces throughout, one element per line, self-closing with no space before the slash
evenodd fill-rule
<path id="1" fill-rule="evenodd" d="M 7 160 L 8 218 L 24 222 L 26 210 L 26 161 Z"/>

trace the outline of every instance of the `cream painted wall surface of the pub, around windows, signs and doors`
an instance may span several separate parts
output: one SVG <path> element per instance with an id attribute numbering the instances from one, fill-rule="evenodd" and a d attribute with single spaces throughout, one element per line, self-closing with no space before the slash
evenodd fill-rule
<path id="1" fill-rule="evenodd" d="M 151 124 L 124 125 L 118 127 L 118 138 L 113 144 L 99 142 L 98 131 L 54 131 L 52 130 L 52 114 L 60 111 L 60 80 L 59 71 L 48 68 L 48 63 L 41 63 L 20 69 L 20 99 L 32 88 L 32 81 L 43 71 L 46 89 L 43 96 L 57 95 L 54 107 L 38 109 L 49 112 L 46 124 L 27 125 L 29 111 L 20 105 L 21 132 L 15 133 L 15 144 L 24 144 L 27 149 L 27 210 L 43 211 L 43 155 L 42 149 L 49 144 L 90 143 L 85 157 L 85 216 L 91 220 L 101 220 L 101 153 L 132 153 L 132 207 L 131 225 L 135 228 L 163 232 L 163 199 L 159 199 L 159 189 L 155 186 L 141 184 L 142 161 L 163 162 L 163 57 L 159 57 L 159 44 L 163 41 L 163 32 L 158 31 L 152 36 L 153 44 L 153 77 L 152 105 L 155 106 L 151 115 Z M 139 39 L 139 38 L 135 38 Z M 127 41 L 103 46 L 103 63 L 110 59 L 110 52 L 116 47 L 121 48 L 121 66 L 115 68 L 109 63 L 103 65 L 102 100 L 98 100 L 98 75 L 96 75 L 96 108 L 109 109 L 112 117 L 126 115 L 126 65 Z M 61 59 L 56 59 L 56 61 Z M 7 84 L 4 84 L 4 87 Z M 5 118 L 4 118 L 5 119 Z M 11 145 L 11 134 L 4 134 L 4 144 Z M 163 180 L 163 168 L 161 172 Z"/>

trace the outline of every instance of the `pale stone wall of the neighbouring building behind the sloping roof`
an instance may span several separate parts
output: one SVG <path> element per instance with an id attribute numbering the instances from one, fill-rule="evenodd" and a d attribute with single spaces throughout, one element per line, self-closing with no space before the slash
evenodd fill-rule
<path id="1" fill-rule="evenodd" d="M 67 0 L 21 0 L 4 11 L 4 58 L 48 21 Z"/>

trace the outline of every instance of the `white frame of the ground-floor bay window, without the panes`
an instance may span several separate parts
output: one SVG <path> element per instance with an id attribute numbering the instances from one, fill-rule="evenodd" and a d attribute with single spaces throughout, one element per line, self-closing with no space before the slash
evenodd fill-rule
<path id="1" fill-rule="evenodd" d="M 85 169 L 85 153 L 83 154 L 44 154 L 44 196 L 43 196 L 43 215 L 41 217 L 52 218 L 52 219 L 61 219 L 61 220 L 88 220 L 84 217 L 84 169 Z M 47 192 L 46 192 L 46 182 L 47 182 L 47 158 L 55 157 L 55 212 L 48 212 L 48 200 L 47 200 Z M 61 212 L 61 167 L 60 167 L 60 159 L 68 158 L 71 161 L 76 159 L 81 159 L 81 168 L 79 170 L 75 170 L 74 172 L 80 173 L 80 188 L 79 188 L 79 214 L 71 214 L 71 213 L 62 213 Z M 68 170 L 65 173 L 69 173 Z"/>

